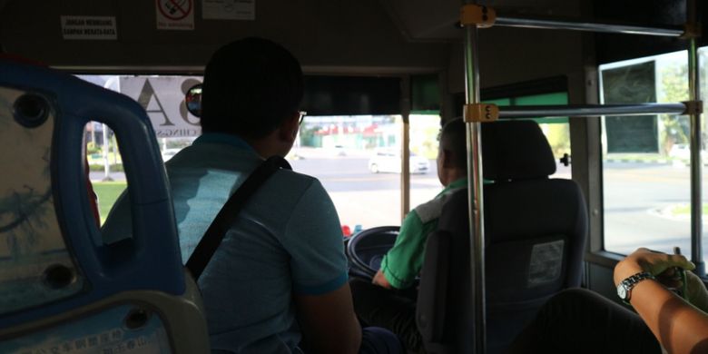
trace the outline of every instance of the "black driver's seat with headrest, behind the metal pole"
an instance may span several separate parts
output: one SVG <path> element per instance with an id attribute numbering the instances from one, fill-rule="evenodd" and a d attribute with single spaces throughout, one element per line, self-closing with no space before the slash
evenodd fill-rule
<path id="1" fill-rule="evenodd" d="M 484 188 L 487 352 L 497 353 L 506 349 L 548 298 L 559 290 L 580 285 L 587 211 L 575 182 L 548 178 L 556 172 L 556 162 L 536 123 L 482 124 L 482 151 L 484 177 L 492 181 Z M 435 256 L 449 260 L 450 280 L 444 291 L 454 293 L 457 300 L 453 300 L 453 294 L 437 295 L 452 302 L 447 303 L 446 322 L 437 326 L 447 333 L 440 336 L 442 342 L 431 346 L 465 353 L 469 350 L 464 339 L 472 333 L 472 314 L 467 310 L 472 294 L 468 287 L 469 257 L 454 252 L 459 251 L 457 248 L 467 254 L 469 251 L 467 190 L 456 192 L 446 203 L 438 229 L 428 244 L 437 242 L 438 237 L 457 242 L 453 254 Z M 435 267 L 426 259 L 418 311 L 429 307 L 421 304 L 421 298 L 430 300 L 425 295 L 432 291 L 425 289 L 430 266 Z M 456 277 L 452 276 L 453 270 L 458 272 Z M 451 326 L 456 322 L 465 325 Z"/>

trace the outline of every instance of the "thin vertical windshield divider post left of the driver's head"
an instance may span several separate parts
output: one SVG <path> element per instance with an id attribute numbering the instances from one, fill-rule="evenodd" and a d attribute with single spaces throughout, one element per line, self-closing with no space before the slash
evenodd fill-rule
<path id="1" fill-rule="evenodd" d="M 400 219 L 410 211 L 410 76 L 401 80 L 401 146 L 400 162 Z"/>

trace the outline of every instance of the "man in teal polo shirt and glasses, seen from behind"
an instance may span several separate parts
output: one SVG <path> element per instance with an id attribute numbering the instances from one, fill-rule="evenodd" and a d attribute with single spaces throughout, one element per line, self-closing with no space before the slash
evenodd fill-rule
<path id="1" fill-rule="evenodd" d="M 202 136 L 165 164 L 182 261 L 251 172 L 264 159 L 290 152 L 303 90 L 300 64 L 279 44 L 245 38 L 211 56 Z M 130 237 L 127 196 L 103 226 L 108 242 Z M 212 352 L 401 349 L 387 330 L 359 327 L 337 211 L 320 182 L 305 174 L 280 170 L 264 182 L 224 235 L 199 287 Z"/>

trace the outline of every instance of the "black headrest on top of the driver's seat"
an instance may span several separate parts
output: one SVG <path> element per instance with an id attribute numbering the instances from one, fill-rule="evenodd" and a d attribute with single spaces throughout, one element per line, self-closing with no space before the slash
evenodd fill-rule
<path id="1" fill-rule="evenodd" d="M 534 121 L 482 123 L 484 178 L 492 181 L 546 178 L 556 159 L 546 135 Z"/>

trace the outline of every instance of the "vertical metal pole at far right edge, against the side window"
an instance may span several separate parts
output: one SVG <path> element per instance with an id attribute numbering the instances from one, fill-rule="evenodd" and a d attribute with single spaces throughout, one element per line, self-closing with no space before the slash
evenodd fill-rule
<path id="1" fill-rule="evenodd" d="M 696 23 L 695 0 L 686 2 L 687 22 Z M 688 44 L 688 90 L 689 100 L 701 99 L 701 85 L 698 70 L 698 48 L 696 39 L 690 38 Z M 701 200 L 701 176 L 703 161 L 703 133 L 701 133 L 701 114 L 691 114 L 691 261 L 696 265 L 696 273 L 705 274 L 703 264 L 703 201 Z"/>

